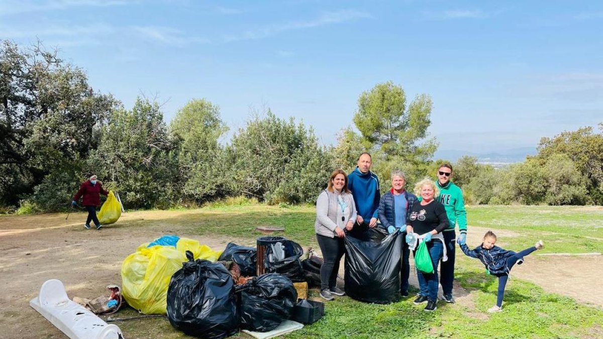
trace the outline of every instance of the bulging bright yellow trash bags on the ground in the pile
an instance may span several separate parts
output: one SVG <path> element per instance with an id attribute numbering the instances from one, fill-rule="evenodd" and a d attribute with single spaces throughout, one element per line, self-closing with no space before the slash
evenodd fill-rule
<path id="1" fill-rule="evenodd" d="M 182 268 L 186 251 L 195 259 L 216 261 L 221 251 L 213 251 L 198 241 L 180 238 L 174 246 L 147 246 L 125 258 L 121 265 L 122 295 L 130 306 L 143 314 L 166 314 L 169 280 Z"/>

